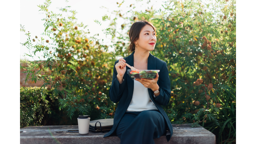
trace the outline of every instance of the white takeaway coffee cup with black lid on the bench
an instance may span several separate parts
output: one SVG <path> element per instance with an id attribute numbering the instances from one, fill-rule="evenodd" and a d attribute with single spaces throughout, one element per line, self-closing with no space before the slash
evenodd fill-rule
<path id="1" fill-rule="evenodd" d="M 90 125 L 89 115 L 80 115 L 77 118 L 79 134 L 88 134 Z"/>

